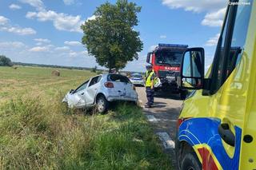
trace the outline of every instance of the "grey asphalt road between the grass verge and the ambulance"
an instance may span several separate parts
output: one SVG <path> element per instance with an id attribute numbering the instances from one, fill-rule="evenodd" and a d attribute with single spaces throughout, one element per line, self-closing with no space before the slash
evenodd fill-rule
<path id="1" fill-rule="evenodd" d="M 140 105 L 146 105 L 146 90 L 144 87 L 136 87 Z M 162 140 L 163 148 L 170 153 L 173 167 L 176 167 L 174 141 L 176 136 L 176 121 L 181 109 L 182 101 L 178 94 L 158 94 L 154 97 L 154 107 L 145 109 L 148 121 L 153 125 L 154 132 Z"/>

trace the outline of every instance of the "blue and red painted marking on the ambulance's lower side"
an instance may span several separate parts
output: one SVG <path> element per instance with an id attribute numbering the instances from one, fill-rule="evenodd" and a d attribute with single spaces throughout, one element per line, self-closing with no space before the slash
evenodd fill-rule
<path id="1" fill-rule="evenodd" d="M 204 170 L 236 170 L 239 167 L 242 129 L 234 127 L 234 156 L 227 155 L 218 134 L 221 121 L 217 118 L 190 118 L 182 122 L 178 129 L 178 140 L 186 141 L 194 148 Z"/>

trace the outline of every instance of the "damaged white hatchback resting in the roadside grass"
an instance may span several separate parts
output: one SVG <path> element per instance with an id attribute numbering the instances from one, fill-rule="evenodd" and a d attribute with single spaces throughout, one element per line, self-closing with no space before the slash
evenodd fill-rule
<path id="1" fill-rule="evenodd" d="M 92 77 L 71 89 L 62 100 L 69 108 L 96 106 L 99 113 L 105 113 L 111 101 L 138 102 L 138 93 L 127 77 L 114 73 Z"/>

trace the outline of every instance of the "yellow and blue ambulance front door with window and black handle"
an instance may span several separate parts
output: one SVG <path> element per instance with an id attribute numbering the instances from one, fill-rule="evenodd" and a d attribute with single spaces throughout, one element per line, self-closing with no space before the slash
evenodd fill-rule
<path id="1" fill-rule="evenodd" d="M 245 130 L 246 116 L 245 93 L 250 77 L 246 71 L 246 37 L 253 1 L 243 2 L 250 5 L 230 6 L 214 57 L 208 105 L 209 115 L 214 117 L 215 122 L 210 125 L 210 131 L 214 136 L 207 141 L 212 154 L 206 149 L 202 150 L 202 155 L 207 152 L 210 158 L 203 160 L 203 169 L 238 169 L 242 158 L 242 131 Z"/>

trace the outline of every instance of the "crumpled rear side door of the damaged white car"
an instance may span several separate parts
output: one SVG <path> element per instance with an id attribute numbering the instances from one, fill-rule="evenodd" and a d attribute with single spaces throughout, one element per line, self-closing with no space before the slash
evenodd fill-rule
<path id="1" fill-rule="evenodd" d="M 102 80 L 102 76 L 93 77 L 86 89 L 86 105 L 93 105 L 96 94 L 98 93 L 98 89 L 100 88 L 100 81 Z"/>

